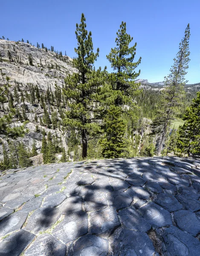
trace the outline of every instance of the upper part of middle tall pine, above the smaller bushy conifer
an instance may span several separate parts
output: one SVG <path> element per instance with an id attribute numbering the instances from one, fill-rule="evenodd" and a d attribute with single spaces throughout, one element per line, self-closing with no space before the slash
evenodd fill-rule
<path id="1" fill-rule="evenodd" d="M 133 38 L 126 32 L 126 23 L 122 21 L 115 40 L 117 47 L 112 48 L 110 54 L 107 55 L 107 59 L 114 70 L 109 76 L 109 82 L 114 91 L 116 106 L 134 107 L 134 97 L 139 93 L 137 90 L 139 84 L 136 84 L 134 79 L 140 74 L 140 70 L 137 73 L 135 69 L 140 64 L 141 57 L 137 62 L 133 62 L 136 54 L 136 43 L 129 47 L 132 40 Z"/>

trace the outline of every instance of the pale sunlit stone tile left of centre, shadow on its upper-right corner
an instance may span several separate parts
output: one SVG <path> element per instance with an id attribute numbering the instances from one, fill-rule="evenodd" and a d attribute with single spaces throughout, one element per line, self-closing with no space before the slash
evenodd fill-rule
<path id="1" fill-rule="evenodd" d="M 58 211 L 61 214 L 70 214 L 72 212 L 82 211 L 83 198 L 79 195 L 71 196 L 67 198 L 61 206 L 58 207 Z"/>

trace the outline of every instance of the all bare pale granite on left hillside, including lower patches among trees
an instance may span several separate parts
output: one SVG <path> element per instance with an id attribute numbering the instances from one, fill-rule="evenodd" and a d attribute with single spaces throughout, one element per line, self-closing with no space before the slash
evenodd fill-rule
<path id="1" fill-rule="evenodd" d="M 31 58 L 31 60 L 30 60 Z M 30 64 L 30 61 L 32 63 Z M 20 91 L 23 91 L 24 95 L 30 95 L 30 86 L 38 86 L 40 93 L 46 94 L 46 90 L 49 89 L 52 93 L 55 93 L 56 87 L 62 88 L 64 86 L 64 78 L 70 74 L 77 72 L 72 67 L 72 58 L 63 56 L 61 53 L 55 53 L 47 49 L 38 49 L 35 46 L 24 42 L 6 41 L 0 40 L 0 86 L 6 83 L 6 76 L 10 77 L 9 88 L 10 93 L 14 95 L 14 87 L 18 86 L 18 96 L 20 98 Z M 13 97 L 14 98 L 14 97 Z M 4 102 L 4 108 L 8 113 L 8 101 Z M 29 148 L 32 148 L 33 141 L 36 142 L 38 153 L 41 151 L 41 140 L 44 129 L 46 133 L 51 131 L 52 135 L 57 135 L 63 145 L 67 148 L 67 132 L 62 127 L 49 129 L 46 126 L 41 126 L 41 123 L 34 120 L 35 115 L 39 118 L 43 117 L 44 110 L 36 100 L 32 105 L 27 99 L 22 103 L 21 100 L 16 102 L 14 99 L 14 108 L 22 111 L 22 106 L 26 107 L 26 116 L 29 123 L 26 128 L 29 129 L 29 133 L 25 137 L 18 140 L 22 140 L 23 143 Z M 58 111 L 58 107 L 51 106 L 49 108 L 49 115 L 51 117 L 52 111 Z M 64 111 L 67 111 L 64 110 Z M 4 115 L 3 108 L 0 110 L 0 117 Z M 61 116 L 58 113 L 58 120 L 61 120 Z M 13 126 L 21 125 L 22 123 L 17 119 L 13 119 Z M 35 127 L 38 125 L 40 132 L 35 131 Z M 7 144 L 7 138 L 2 137 L 1 142 Z M 3 159 L 2 145 L 0 145 L 0 160 Z"/>

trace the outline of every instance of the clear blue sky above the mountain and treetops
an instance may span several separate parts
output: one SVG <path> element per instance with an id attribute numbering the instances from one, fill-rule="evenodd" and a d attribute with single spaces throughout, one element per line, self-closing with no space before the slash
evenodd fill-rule
<path id="1" fill-rule="evenodd" d="M 191 27 L 190 58 L 186 79 L 200 82 L 200 1 L 199 0 L 2 0 L 0 37 L 21 38 L 43 43 L 75 56 L 75 24 L 81 13 L 92 31 L 94 49 L 100 48 L 96 67 L 110 64 L 106 59 L 115 47 L 116 32 L 122 20 L 137 42 L 136 58 L 142 57 L 139 78 L 163 81 L 188 23 Z"/>

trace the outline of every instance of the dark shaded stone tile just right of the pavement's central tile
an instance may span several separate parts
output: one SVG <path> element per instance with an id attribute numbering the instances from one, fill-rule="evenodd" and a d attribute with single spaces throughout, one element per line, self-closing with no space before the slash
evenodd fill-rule
<path id="1" fill-rule="evenodd" d="M 125 192 L 113 191 L 107 194 L 109 206 L 113 206 L 116 210 L 130 206 L 133 199 Z"/>

